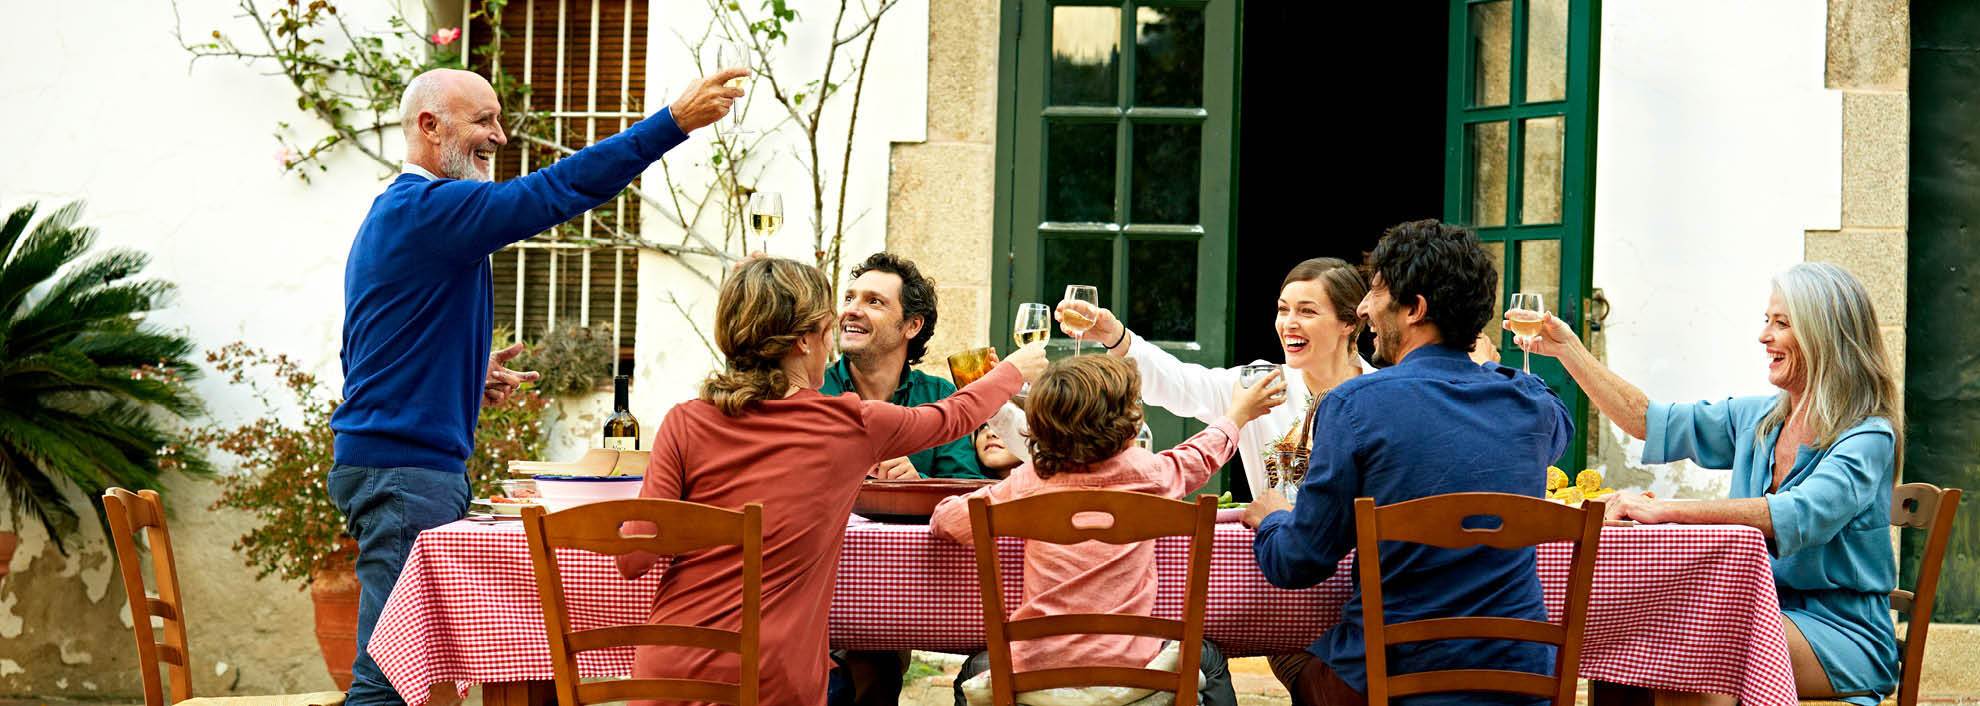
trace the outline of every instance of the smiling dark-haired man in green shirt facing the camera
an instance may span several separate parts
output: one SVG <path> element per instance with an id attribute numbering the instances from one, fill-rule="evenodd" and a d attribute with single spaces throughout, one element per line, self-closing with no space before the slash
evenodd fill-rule
<path id="1" fill-rule="evenodd" d="M 921 405 L 956 394 L 948 380 L 911 368 L 929 352 L 935 336 L 935 281 L 913 261 L 895 253 L 873 253 L 853 267 L 840 305 L 840 362 L 826 368 L 818 392 L 857 394 Z M 982 479 L 970 437 L 935 449 L 887 459 L 873 467 L 875 479 Z"/>

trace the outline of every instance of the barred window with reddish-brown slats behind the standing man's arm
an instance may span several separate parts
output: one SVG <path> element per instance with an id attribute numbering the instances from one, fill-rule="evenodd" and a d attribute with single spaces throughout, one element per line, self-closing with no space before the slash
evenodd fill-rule
<path id="1" fill-rule="evenodd" d="M 531 87 L 523 109 L 539 113 L 552 142 L 584 148 L 645 117 L 647 0 L 511 0 L 501 26 L 493 71 Z M 463 55 L 483 75 L 491 67 L 475 49 L 493 38 L 485 20 L 463 20 Z M 495 156 L 495 178 L 523 176 L 556 158 L 556 150 L 511 136 Z M 495 253 L 495 324 L 509 326 L 515 340 L 535 340 L 558 326 L 608 322 L 628 366 L 640 253 L 610 245 L 616 233 L 640 233 L 638 200 L 620 196 Z"/>

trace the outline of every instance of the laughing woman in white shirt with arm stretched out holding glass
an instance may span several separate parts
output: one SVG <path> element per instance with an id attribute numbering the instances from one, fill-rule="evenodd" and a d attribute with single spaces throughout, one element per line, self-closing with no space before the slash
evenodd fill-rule
<path id="1" fill-rule="evenodd" d="M 1279 314 L 1273 320 L 1273 330 L 1279 334 L 1279 350 L 1285 352 L 1287 403 L 1273 407 L 1238 433 L 1238 457 L 1243 459 L 1245 481 L 1253 496 L 1271 488 L 1267 477 L 1277 475 L 1267 475 L 1267 465 L 1277 471 L 1273 447 L 1281 441 L 1299 443 L 1295 431 L 1305 425 L 1307 411 L 1317 399 L 1348 378 L 1374 370 L 1354 352 L 1354 340 L 1360 338 L 1362 326 L 1354 307 L 1364 295 L 1368 295 L 1368 283 L 1362 281 L 1360 271 L 1335 257 L 1303 261 L 1279 285 Z M 1087 310 L 1091 307 L 1085 303 L 1059 303 L 1055 316 L 1061 328 L 1067 309 L 1087 312 L 1093 318 L 1093 326 L 1077 338 L 1099 342 L 1109 354 L 1135 362 L 1135 368 L 1140 370 L 1144 403 L 1204 423 L 1214 423 L 1230 407 L 1239 368 L 1204 368 L 1176 360 L 1121 324 L 1111 310 Z"/>

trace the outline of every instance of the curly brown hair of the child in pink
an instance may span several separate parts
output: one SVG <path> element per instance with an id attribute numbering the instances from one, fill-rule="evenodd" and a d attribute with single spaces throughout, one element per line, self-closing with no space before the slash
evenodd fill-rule
<path id="1" fill-rule="evenodd" d="M 1115 356 L 1053 362 L 1032 384 L 1032 469 L 1040 479 L 1081 473 L 1135 443 L 1140 431 L 1140 374 Z"/>

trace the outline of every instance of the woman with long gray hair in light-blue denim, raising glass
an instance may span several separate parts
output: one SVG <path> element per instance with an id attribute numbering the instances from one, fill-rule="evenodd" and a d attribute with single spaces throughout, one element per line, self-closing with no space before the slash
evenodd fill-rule
<path id="1" fill-rule="evenodd" d="M 1774 277 L 1760 328 L 1766 382 L 1780 388 L 1774 396 L 1651 401 L 1554 316 L 1540 334 L 1515 342 L 1560 358 L 1602 413 L 1645 441 L 1643 463 L 1732 469 L 1729 500 L 1669 502 L 1626 490 L 1608 512 L 1612 520 L 1764 532 L 1800 696 L 1869 706 L 1897 686 L 1889 512 L 1903 421 L 1863 283 L 1826 263 Z"/>

